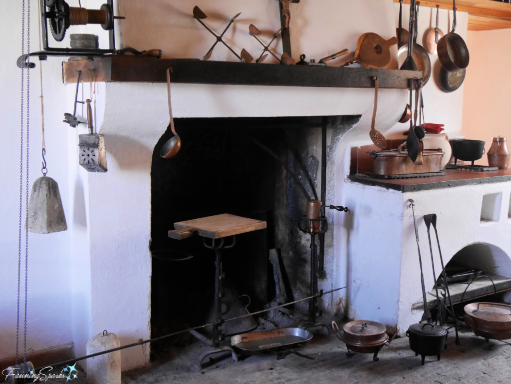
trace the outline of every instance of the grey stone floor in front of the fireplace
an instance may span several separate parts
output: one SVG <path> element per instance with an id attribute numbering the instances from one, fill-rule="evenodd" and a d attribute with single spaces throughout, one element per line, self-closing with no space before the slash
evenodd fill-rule
<path id="1" fill-rule="evenodd" d="M 197 370 L 197 357 L 207 347 L 193 343 L 182 349 L 172 348 L 168 357 L 154 362 L 150 367 L 123 374 L 123 384 L 146 383 L 304 383 L 335 384 L 364 383 L 511 383 L 511 346 L 493 341 L 493 349 L 483 350 L 484 339 L 474 336 L 470 329 L 460 332 L 460 345 L 448 337 L 448 348 L 437 361 L 436 356 L 426 357 L 421 366 L 421 356 L 409 349 L 408 338 L 396 338 L 379 353 L 380 360 L 373 361 L 373 354 L 346 356 L 344 343 L 335 335 L 315 334 L 302 353 L 317 360 L 290 354 L 277 360 L 273 354 L 253 355 L 235 363 L 230 358 L 214 362 Z M 80 374 L 74 384 L 85 383 Z"/>

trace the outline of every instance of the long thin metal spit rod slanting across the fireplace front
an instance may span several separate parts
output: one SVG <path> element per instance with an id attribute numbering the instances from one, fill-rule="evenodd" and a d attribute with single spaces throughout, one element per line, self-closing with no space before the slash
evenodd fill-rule
<path id="1" fill-rule="evenodd" d="M 36 368 L 35 370 L 38 371 L 38 370 L 43 369 L 43 368 L 58 367 L 58 366 L 61 366 L 61 365 L 64 365 L 64 364 L 69 365 L 71 363 L 79 362 L 80 360 L 85 360 L 85 359 L 90 358 L 90 357 L 96 357 L 96 356 L 103 355 L 105 353 L 120 351 L 121 349 L 126 349 L 126 348 L 130 348 L 130 347 L 135 347 L 137 345 L 142 345 L 142 344 L 146 344 L 146 343 L 155 342 L 155 341 L 158 341 L 158 340 L 163 340 L 164 338 L 167 338 L 167 337 L 175 336 L 175 335 L 180 334 L 180 333 L 189 332 L 189 331 L 193 331 L 193 330 L 204 328 L 204 327 L 209 327 L 211 325 L 222 324 L 222 323 L 227 322 L 227 321 L 232 321 L 232 320 L 237 320 L 237 319 L 241 319 L 241 318 L 246 318 L 246 317 L 252 316 L 254 314 L 268 312 L 268 311 L 271 311 L 273 309 L 282 308 L 282 307 L 285 307 L 285 306 L 288 306 L 288 305 L 291 305 L 291 304 L 298 303 L 300 301 L 315 299 L 315 298 L 318 298 L 318 297 L 322 297 L 323 295 L 326 295 L 327 293 L 332 293 L 332 292 L 335 292 L 337 290 L 341 290 L 341 289 L 344 289 L 344 288 L 346 288 L 346 286 L 341 287 L 341 288 L 331 289 L 331 290 L 328 290 L 326 292 L 323 292 L 323 290 L 321 289 L 319 291 L 319 293 L 317 293 L 317 295 L 309 296 L 309 297 L 304 298 L 304 299 L 295 300 L 295 301 L 292 301 L 292 302 L 289 302 L 289 303 L 286 303 L 286 304 L 277 305 L 275 307 L 271 307 L 271 308 L 268 308 L 268 309 L 262 309 L 262 310 L 257 311 L 257 312 L 243 314 L 243 315 L 237 316 L 235 318 L 231 318 L 231 319 L 225 319 L 225 320 L 216 321 L 216 322 L 209 323 L 209 324 L 199 325 L 197 327 L 191 327 L 191 328 L 183 329 L 181 331 L 172 332 L 172 333 L 169 333 L 169 334 L 166 334 L 166 335 L 163 335 L 163 336 L 158 336 L 158 337 L 150 338 L 148 340 L 143 340 L 141 342 L 127 344 L 127 345 L 124 345 L 124 346 L 121 346 L 121 347 L 117 347 L 117 348 L 107 349 L 106 351 L 92 353 L 90 355 L 73 358 L 71 360 L 65 360 L 64 362 L 55 363 L 55 364 L 52 364 L 52 365 L 49 365 L 49 366 L 39 367 L 39 368 Z"/>

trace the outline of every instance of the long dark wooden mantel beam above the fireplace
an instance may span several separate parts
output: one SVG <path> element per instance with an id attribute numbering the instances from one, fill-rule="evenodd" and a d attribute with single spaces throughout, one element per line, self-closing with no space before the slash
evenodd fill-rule
<path id="1" fill-rule="evenodd" d="M 64 81 L 76 82 L 77 71 L 93 69 L 97 81 L 166 82 L 167 68 L 173 83 L 280 85 L 305 87 L 373 88 L 378 76 L 380 88 L 407 88 L 408 79 L 422 77 L 421 71 L 400 71 L 316 65 L 258 64 L 195 59 L 156 59 L 111 55 L 64 63 Z M 82 76 L 81 81 L 89 81 Z"/>

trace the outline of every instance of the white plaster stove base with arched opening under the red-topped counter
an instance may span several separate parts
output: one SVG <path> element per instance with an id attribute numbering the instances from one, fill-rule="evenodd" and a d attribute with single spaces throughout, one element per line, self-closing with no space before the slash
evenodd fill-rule
<path id="1" fill-rule="evenodd" d="M 346 226 L 345 243 L 339 254 L 347 252 L 347 298 L 349 315 L 355 319 L 397 326 L 403 334 L 408 326 L 421 320 L 422 311 L 412 304 L 422 302 L 419 253 L 415 240 L 412 210 L 415 201 L 426 289 L 434 286 L 441 272 L 434 230 L 431 228 L 436 277 L 431 268 L 424 215 L 436 213 L 437 230 L 444 264 L 463 247 L 475 243 L 493 244 L 511 255 L 511 221 L 508 218 L 511 183 L 481 184 L 448 189 L 401 193 L 381 187 L 346 183 L 347 206 L 353 207 L 353 224 Z M 485 194 L 501 193 L 497 221 L 481 222 Z M 356 197 L 355 197 L 356 196 Z M 346 222 L 346 220 L 345 220 Z M 509 256 L 494 272 L 511 273 Z M 350 291 L 351 290 L 351 291 Z"/>

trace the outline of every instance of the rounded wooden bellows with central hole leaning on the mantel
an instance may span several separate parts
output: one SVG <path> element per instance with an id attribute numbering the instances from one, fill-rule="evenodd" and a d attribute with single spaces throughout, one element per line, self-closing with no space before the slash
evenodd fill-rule
<path id="1" fill-rule="evenodd" d="M 396 36 L 385 40 L 376 33 L 364 33 L 358 38 L 355 58 L 341 66 L 358 63 L 369 68 L 383 68 L 390 62 L 390 47 L 397 43 Z"/>

